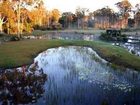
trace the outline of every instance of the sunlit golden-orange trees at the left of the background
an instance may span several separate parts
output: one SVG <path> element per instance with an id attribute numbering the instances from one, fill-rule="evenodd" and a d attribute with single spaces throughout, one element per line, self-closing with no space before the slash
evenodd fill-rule
<path id="1" fill-rule="evenodd" d="M 1 0 L 0 32 L 7 34 L 30 33 L 37 28 L 60 27 L 57 9 L 48 11 L 42 0 Z"/>

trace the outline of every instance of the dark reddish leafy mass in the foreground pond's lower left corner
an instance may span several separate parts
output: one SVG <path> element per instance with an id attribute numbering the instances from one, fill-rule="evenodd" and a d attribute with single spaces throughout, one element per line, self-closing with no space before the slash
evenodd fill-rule
<path id="1" fill-rule="evenodd" d="M 37 69 L 36 69 L 37 71 Z M 27 104 L 34 103 L 44 93 L 43 85 L 46 74 L 43 70 L 22 68 L 14 69 L 0 74 L 0 103 Z"/>

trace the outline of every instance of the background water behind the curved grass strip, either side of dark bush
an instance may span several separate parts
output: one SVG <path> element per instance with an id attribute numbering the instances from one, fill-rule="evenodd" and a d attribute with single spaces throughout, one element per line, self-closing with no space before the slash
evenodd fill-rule
<path id="1" fill-rule="evenodd" d="M 99 41 L 100 34 L 84 34 L 76 32 L 52 32 L 44 36 L 27 36 L 26 38 L 33 39 L 62 39 L 62 40 L 86 40 L 86 41 Z M 128 35 L 128 41 L 123 42 L 111 42 L 113 45 L 117 45 L 127 49 L 130 53 L 140 56 L 140 35 Z"/>

